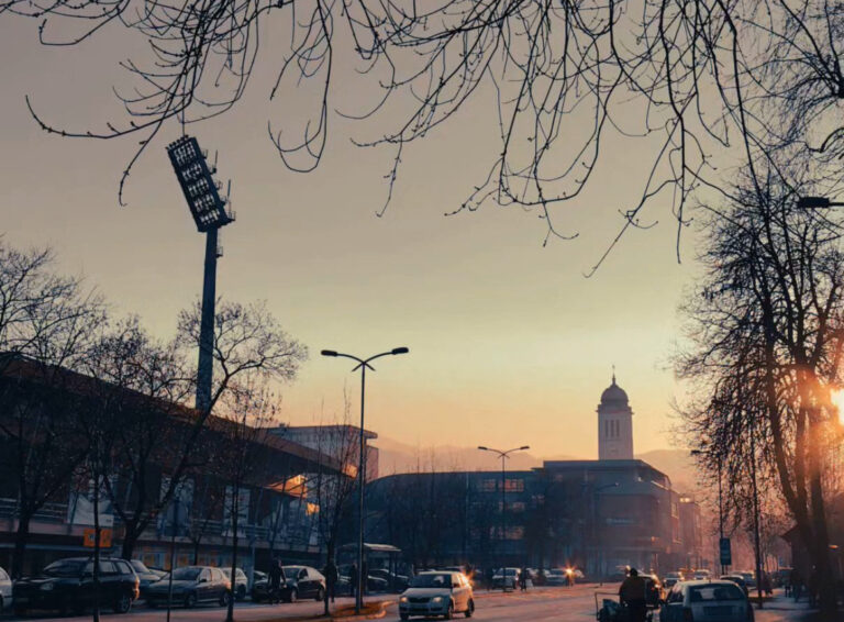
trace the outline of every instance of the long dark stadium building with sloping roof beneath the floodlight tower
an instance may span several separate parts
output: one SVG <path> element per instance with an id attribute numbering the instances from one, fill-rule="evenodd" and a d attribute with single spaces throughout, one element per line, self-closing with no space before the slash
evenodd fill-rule
<path id="1" fill-rule="evenodd" d="M 108 410 L 96 414 L 103 403 Z M 142 514 L 153 518 L 141 530 L 133 557 L 148 566 L 168 567 L 171 545 L 177 566 L 230 564 L 234 508 L 244 567 L 267 567 L 276 555 L 287 562 L 319 563 L 320 501 L 330 499 L 325 493 L 320 499 L 314 487 L 324 486 L 324 491 L 333 478 L 354 478 L 354 465 L 269 429 L 246 427 L 233 436 L 236 423 L 210 416 L 193 438 L 198 449 L 185 477 L 164 503 L 178 449 L 192 438 L 200 413 L 18 358 L 0 366 L 0 566 L 11 568 L 21 521 L 27 517 L 25 503 L 37 507 L 24 525 L 24 573 L 90 553 L 95 490 L 84 466 L 90 441 L 86 422 L 96 416 L 115 418 L 113 423 L 125 427 L 124 438 L 110 449 L 109 471 L 103 474 L 109 481 L 97 499 L 108 554 L 121 554 L 126 523 L 143 502 Z M 230 462 L 234 443 L 245 456 L 237 475 L 237 503 Z M 142 457 L 146 468 L 131 464 Z"/>

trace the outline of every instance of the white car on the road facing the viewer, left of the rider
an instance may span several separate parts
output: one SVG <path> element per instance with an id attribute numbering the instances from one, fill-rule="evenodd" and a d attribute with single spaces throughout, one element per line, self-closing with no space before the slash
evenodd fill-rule
<path id="1" fill-rule="evenodd" d="M 463 613 L 466 618 L 475 613 L 471 585 L 463 573 L 420 573 L 399 597 L 399 618 L 402 620 L 411 615 L 442 615 L 451 620 L 455 613 Z"/>

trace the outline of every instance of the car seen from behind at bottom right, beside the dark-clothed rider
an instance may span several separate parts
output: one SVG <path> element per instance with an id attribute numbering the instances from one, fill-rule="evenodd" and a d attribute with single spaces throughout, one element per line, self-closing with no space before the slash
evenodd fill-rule
<path id="1" fill-rule="evenodd" d="M 753 608 L 732 581 L 675 585 L 659 609 L 659 622 L 753 622 Z"/>

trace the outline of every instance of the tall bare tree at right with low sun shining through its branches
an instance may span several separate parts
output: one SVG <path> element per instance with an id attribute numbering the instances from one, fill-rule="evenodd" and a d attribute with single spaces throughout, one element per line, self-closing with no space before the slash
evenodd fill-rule
<path id="1" fill-rule="evenodd" d="M 833 620 L 825 474 L 842 437 L 829 395 L 842 380 L 842 230 L 797 208 L 811 178 L 789 170 L 788 180 L 771 171 L 763 192 L 745 177 L 710 219 L 707 273 L 684 308 L 690 341 L 677 369 L 695 388 L 682 415 L 703 466 L 724 474 L 745 520 L 760 513 L 762 491 L 781 496 Z"/>

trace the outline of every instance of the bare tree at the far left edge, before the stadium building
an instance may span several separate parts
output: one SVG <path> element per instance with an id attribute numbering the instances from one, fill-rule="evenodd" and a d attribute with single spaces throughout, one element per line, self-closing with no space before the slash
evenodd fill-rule
<path id="1" fill-rule="evenodd" d="M 78 368 L 103 322 L 102 299 L 77 278 L 53 271 L 49 251 L 16 251 L 0 238 L 0 460 L 18 497 L 12 576 L 20 577 L 35 513 L 67 490 L 67 474 L 86 459 L 74 444 L 85 400 Z"/>

